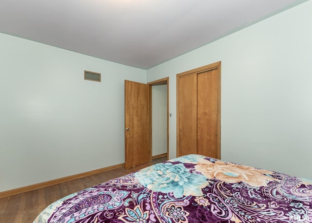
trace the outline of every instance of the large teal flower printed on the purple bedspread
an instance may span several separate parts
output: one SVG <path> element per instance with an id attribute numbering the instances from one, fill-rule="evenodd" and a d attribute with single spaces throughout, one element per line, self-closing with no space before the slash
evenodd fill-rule
<path id="1" fill-rule="evenodd" d="M 170 193 L 176 198 L 202 196 L 202 188 L 208 185 L 202 174 L 191 173 L 182 163 L 158 163 L 135 173 L 139 183 L 152 191 Z"/>

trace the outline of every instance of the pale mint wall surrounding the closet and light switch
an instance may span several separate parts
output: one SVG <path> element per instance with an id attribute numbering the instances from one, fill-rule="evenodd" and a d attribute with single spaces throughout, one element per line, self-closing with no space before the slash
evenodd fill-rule
<path id="1" fill-rule="evenodd" d="M 176 74 L 221 64 L 221 158 L 312 178 L 312 1 L 147 70 L 169 76 L 176 157 Z"/>

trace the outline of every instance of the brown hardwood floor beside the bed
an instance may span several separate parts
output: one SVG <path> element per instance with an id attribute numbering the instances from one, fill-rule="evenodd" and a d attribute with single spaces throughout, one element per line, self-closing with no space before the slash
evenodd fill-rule
<path id="1" fill-rule="evenodd" d="M 167 157 L 161 157 L 154 159 L 152 162 L 145 163 L 128 170 L 118 168 L 77 180 L 63 182 L 37 190 L 1 198 L 0 222 L 32 223 L 45 207 L 62 197 L 99 183 L 127 175 L 147 166 L 151 166 L 159 162 L 165 162 L 166 160 Z"/>

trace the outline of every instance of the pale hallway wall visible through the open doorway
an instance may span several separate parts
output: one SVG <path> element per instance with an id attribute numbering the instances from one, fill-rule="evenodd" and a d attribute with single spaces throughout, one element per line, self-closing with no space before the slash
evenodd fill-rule
<path id="1" fill-rule="evenodd" d="M 167 153 L 167 85 L 152 86 L 152 155 Z"/>

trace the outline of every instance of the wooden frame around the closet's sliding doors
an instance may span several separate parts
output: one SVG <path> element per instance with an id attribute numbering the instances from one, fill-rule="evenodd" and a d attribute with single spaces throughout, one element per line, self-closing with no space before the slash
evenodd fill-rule
<path id="1" fill-rule="evenodd" d="M 192 73 L 203 73 L 214 69 L 217 70 L 218 76 L 217 159 L 221 159 L 221 61 L 176 75 L 176 157 L 179 156 L 179 78 Z"/>

